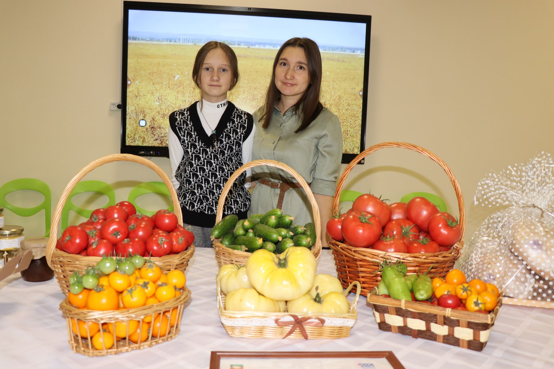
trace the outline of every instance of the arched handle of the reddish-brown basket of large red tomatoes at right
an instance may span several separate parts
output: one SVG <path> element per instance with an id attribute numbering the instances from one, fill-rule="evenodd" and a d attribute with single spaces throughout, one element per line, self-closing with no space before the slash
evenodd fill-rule
<path id="1" fill-rule="evenodd" d="M 417 153 L 423 154 L 429 159 L 433 160 L 435 163 L 439 164 L 441 168 L 444 169 L 446 174 L 448 175 L 448 178 L 450 179 L 450 183 L 452 183 L 452 186 L 454 187 L 454 191 L 456 193 L 456 199 L 458 199 L 458 209 L 460 211 L 460 218 L 459 218 L 459 224 L 460 224 L 460 240 L 464 239 L 464 233 L 465 233 L 465 207 L 464 207 L 464 197 L 461 194 L 461 188 L 460 184 L 458 183 L 458 180 L 452 173 L 452 170 L 448 167 L 447 163 L 443 162 L 442 159 L 440 159 L 437 155 L 433 154 L 427 149 L 424 149 L 422 147 L 419 147 L 418 145 L 414 145 L 407 142 L 383 142 L 379 143 L 377 145 L 373 145 L 370 148 L 367 148 L 363 150 L 360 154 L 358 154 L 350 164 L 347 165 L 345 170 L 342 172 L 340 179 L 338 179 L 337 183 L 337 190 L 335 191 L 335 198 L 333 200 L 333 214 L 335 214 L 338 211 L 338 200 L 340 198 L 340 194 L 342 191 L 342 186 L 345 183 L 346 177 L 348 173 L 355 167 L 357 163 L 359 163 L 363 158 L 365 158 L 367 155 L 376 152 L 377 150 L 384 149 L 387 147 L 401 147 L 404 149 L 413 150 Z"/>

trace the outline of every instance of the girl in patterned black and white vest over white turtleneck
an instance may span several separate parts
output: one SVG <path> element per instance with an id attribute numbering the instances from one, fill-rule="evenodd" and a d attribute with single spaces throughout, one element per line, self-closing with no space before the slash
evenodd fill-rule
<path id="1" fill-rule="evenodd" d="M 227 101 L 227 91 L 239 79 L 237 56 L 226 44 L 203 45 L 192 70 L 202 91 L 202 101 L 171 113 L 168 147 L 173 185 L 177 190 L 183 222 L 192 226 L 194 244 L 211 247 L 219 197 L 225 182 L 252 158 L 252 115 Z M 233 183 L 223 216 L 245 219 L 250 207 L 249 171 Z"/>

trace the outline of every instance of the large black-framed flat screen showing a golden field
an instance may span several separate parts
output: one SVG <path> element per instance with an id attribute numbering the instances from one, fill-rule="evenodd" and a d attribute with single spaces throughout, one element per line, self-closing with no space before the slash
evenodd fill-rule
<path id="1" fill-rule="evenodd" d="M 341 122 L 342 163 L 365 149 L 371 15 L 124 1 L 121 153 L 169 157 L 168 116 L 200 99 L 192 80 L 198 49 L 230 45 L 240 79 L 228 99 L 263 105 L 275 54 L 307 37 L 321 51 L 321 102 Z"/>

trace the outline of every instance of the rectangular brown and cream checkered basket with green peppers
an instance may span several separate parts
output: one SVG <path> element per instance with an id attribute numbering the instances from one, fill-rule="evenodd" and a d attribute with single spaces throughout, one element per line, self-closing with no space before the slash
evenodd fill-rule
<path id="1" fill-rule="evenodd" d="M 382 297 L 377 288 L 367 296 L 366 304 L 373 309 L 380 330 L 481 351 L 502 305 L 501 296 L 490 314 Z"/>

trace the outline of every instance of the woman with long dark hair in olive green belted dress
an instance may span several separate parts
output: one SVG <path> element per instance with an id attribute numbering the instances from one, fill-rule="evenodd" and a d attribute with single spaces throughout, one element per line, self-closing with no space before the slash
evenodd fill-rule
<path id="1" fill-rule="evenodd" d="M 296 170 L 314 193 L 321 216 L 321 240 L 331 218 L 342 157 L 342 133 L 336 115 L 321 105 L 321 55 L 308 38 L 292 38 L 279 49 L 265 105 L 254 112 L 257 126 L 252 160 L 271 159 Z M 294 224 L 313 221 L 311 205 L 294 177 L 274 167 L 252 168 L 250 214 L 281 207 Z M 281 195 L 281 201 L 279 197 Z M 279 206 L 281 205 L 281 206 Z"/>

